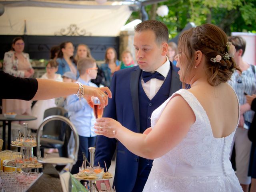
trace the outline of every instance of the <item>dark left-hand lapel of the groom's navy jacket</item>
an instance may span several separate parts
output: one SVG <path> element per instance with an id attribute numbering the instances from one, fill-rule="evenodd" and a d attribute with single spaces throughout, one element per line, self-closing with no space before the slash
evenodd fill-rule
<path id="1" fill-rule="evenodd" d="M 140 132 L 140 108 L 139 108 L 139 79 L 141 75 L 141 69 L 137 67 L 131 73 L 130 88 L 132 95 L 132 106 L 134 110 L 134 118 L 138 132 Z"/>

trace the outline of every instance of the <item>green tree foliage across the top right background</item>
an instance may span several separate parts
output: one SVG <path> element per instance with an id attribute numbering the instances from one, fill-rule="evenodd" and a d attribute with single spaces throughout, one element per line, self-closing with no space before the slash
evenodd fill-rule
<path id="1" fill-rule="evenodd" d="M 167 5 L 168 16 L 156 15 L 156 8 Z M 176 36 L 188 22 L 196 25 L 216 24 L 228 35 L 236 32 L 256 32 L 256 0 L 167 0 L 158 6 L 146 6 L 149 19 L 164 22 L 170 38 Z M 129 21 L 140 18 L 139 12 L 133 12 Z"/>

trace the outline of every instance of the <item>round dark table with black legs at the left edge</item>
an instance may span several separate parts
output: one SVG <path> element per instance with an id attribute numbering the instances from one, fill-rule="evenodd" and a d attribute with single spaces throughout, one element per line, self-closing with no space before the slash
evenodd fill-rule
<path id="1" fill-rule="evenodd" d="M 8 150 L 11 149 L 11 131 L 12 131 L 12 121 L 32 121 L 36 120 L 37 117 L 35 116 L 29 116 L 29 115 L 16 115 L 15 118 L 7 118 L 3 114 L 0 114 L 0 121 L 3 122 L 3 150 L 5 150 L 5 134 L 6 134 L 6 122 L 8 124 Z"/>

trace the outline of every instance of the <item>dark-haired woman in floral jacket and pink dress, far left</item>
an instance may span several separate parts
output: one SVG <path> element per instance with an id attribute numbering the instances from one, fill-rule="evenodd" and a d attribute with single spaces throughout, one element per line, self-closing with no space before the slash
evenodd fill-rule
<path id="1" fill-rule="evenodd" d="M 12 48 L 4 54 L 4 72 L 16 77 L 32 77 L 34 70 L 29 61 L 29 55 L 24 53 L 24 41 L 16 37 L 12 41 Z M 31 101 L 3 100 L 3 113 L 15 112 L 18 115 L 31 115 Z"/>

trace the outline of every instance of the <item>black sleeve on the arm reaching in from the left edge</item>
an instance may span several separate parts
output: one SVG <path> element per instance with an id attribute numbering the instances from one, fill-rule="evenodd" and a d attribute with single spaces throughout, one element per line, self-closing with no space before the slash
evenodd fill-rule
<path id="1" fill-rule="evenodd" d="M 31 100 L 38 89 L 35 78 L 14 77 L 0 71 L 0 98 Z"/>

